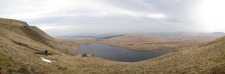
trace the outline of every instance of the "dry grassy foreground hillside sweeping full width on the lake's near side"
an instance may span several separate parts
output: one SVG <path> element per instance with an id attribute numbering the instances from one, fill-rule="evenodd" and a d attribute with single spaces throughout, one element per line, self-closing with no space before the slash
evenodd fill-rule
<path id="1" fill-rule="evenodd" d="M 23 31 L 26 30 L 24 26 L 0 23 L 1 74 L 225 73 L 225 37 L 145 61 L 117 62 L 97 57 L 67 55 L 56 48 L 73 46 L 72 43 L 67 43 L 68 40 L 43 39 L 51 45 L 49 46 L 36 39 L 39 36 L 41 40 L 45 37 L 40 33 L 35 33 L 36 31 Z M 56 42 L 55 45 L 54 42 Z M 44 50 L 48 50 L 52 55 L 35 54 Z M 55 62 L 48 63 L 42 61 L 40 57 Z"/>

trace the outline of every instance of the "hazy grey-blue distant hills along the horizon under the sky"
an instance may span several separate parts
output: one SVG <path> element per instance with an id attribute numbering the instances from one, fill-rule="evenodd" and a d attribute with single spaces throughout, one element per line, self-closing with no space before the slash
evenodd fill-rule
<path id="1" fill-rule="evenodd" d="M 74 36 L 61 36 L 59 38 L 94 38 L 94 39 L 110 39 L 115 38 L 119 36 L 125 36 L 125 35 L 137 35 L 137 34 L 146 34 L 151 36 L 157 36 L 157 37 L 199 37 L 202 36 L 204 39 L 208 40 L 214 40 L 219 37 L 225 36 L 225 33 L 223 32 L 206 32 L 206 33 L 198 33 L 198 32 L 174 32 L 174 33 L 166 33 L 166 32 L 153 32 L 153 33 L 123 33 L 123 34 L 117 34 L 117 33 L 103 33 L 103 34 L 84 34 L 84 35 L 74 35 Z M 192 37 L 193 38 L 193 37 Z"/>

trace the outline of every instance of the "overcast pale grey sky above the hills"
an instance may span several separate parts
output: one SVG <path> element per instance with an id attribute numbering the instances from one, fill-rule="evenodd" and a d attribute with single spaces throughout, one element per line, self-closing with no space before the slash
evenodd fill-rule
<path id="1" fill-rule="evenodd" d="M 225 32 L 224 0 L 0 0 L 0 17 L 51 36 Z"/>

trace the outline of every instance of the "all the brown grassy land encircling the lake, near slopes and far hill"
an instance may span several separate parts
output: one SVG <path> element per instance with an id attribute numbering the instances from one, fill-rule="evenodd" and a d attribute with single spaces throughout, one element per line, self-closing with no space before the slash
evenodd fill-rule
<path id="1" fill-rule="evenodd" d="M 207 36 L 203 36 L 210 38 Z M 57 39 L 26 22 L 0 19 L 0 73 L 21 74 L 206 74 L 225 73 L 225 37 L 157 37 L 146 34 L 110 39 Z M 137 51 L 173 50 L 139 62 L 72 56 L 80 45 L 105 43 Z M 35 54 L 47 50 L 52 55 Z M 45 62 L 43 58 L 55 62 Z"/>

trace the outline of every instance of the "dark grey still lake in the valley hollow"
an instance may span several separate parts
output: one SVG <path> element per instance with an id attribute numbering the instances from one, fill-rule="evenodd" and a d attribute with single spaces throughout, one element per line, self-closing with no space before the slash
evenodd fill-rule
<path id="1" fill-rule="evenodd" d="M 158 57 L 171 52 L 172 51 L 165 51 L 165 50 L 141 52 L 128 50 L 125 48 L 112 47 L 106 44 L 95 43 L 90 45 L 81 45 L 79 51 L 75 55 L 86 53 L 86 54 L 93 54 L 96 57 L 108 60 L 122 61 L 122 62 L 136 62 Z"/>

